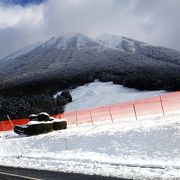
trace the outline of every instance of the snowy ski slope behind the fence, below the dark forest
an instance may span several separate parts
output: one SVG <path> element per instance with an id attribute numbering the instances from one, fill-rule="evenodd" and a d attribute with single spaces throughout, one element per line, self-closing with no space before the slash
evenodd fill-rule
<path id="1" fill-rule="evenodd" d="M 71 91 L 73 101 L 65 106 L 65 111 L 95 108 L 115 103 L 144 99 L 165 93 L 165 91 L 139 91 L 113 82 L 92 82 Z M 58 92 L 54 95 L 60 95 Z"/>

